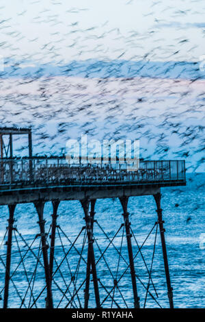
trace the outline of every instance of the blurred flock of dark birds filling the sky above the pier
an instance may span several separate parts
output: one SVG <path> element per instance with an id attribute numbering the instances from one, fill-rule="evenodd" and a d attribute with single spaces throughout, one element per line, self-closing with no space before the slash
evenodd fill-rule
<path id="1" fill-rule="evenodd" d="M 133 27 L 125 34 L 109 18 L 99 25 L 88 21 L 83 29 L 82 21 L 89 16 L 92 3 L 91 7 L 87 3 L 70 8 L 61 0 L 49 1 L 51 5 L 27 1 L 12 14 L 2 1 L 0 10 L 7 14 L 0 21 L 0 48 L 6 53 L 0 74 L 1 125 L 31 126 L 36 154 L 64 153 L 66 140 L 81 134 L 100 140 L 131 138 L 140 140 L 142 158 L 185 159 L 190 171 L 204 171 L 205 72 L 195 62 L 188 71 L 191 77 L 183 78 L 190 64 L 184 64 L 176 77 L 165 77 L 172 75 L 180 61 L 194 60 L 194 53 L 202 47 L 205 27 L 199 22 L 205 12 L 203 1 L 187 1 L 187 7 L 184 1 L 148 2 L 142 18 L 151 17 L 152 27 Z M 105 5 L 109 10 L 108 2 Z M 133 0 L 120 1 L 120 5 L 137 8 Z M 123 25 L 123 12 L 118 14 Z M 187 27 L 187 16 L 198 19 Z M 29 32 L 25 32 L 25 21 Z M 193 41 L 195 30 L 197 39 Z M 163 71 L 153 64 L 143 74 L 143 67 L 152 60 L 161 61 Z M 141 62 L 135 74 L 125 66 L 127 61 Z M 174 65 L 167 63 L 170 61 Z M 59 66 L 61 73 L 46 75 L 49 64 Z M 34 66 L 31 75 L 22 74 L 27 65 Z M 125 67 L 128 76 L 123 77 Z M 17 138 L 18 143 L 20 140 Z M 17 145 L 16 153 L 26 151 L 25 143 Z"/>

